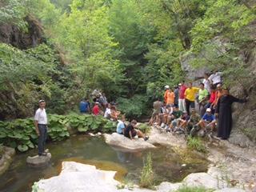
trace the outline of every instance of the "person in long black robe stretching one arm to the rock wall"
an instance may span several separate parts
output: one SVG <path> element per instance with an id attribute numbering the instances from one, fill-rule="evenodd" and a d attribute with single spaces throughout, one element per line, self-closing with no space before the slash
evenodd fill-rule
<path id="1" fill-rule="evenodd" d="M 246 99 L 235 98 L 229 94 L 228 89 L 223 90 L 222 97 L 218 99 L 216 114 L 218 117 L 218 137 L 222 139 L 230 138 L 232 130 L 232 111 L 233 102 L 246 102 Z"/>

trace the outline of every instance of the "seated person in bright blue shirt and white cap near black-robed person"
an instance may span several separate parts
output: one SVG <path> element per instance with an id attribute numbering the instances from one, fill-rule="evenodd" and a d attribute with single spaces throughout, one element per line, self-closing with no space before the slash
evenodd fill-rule
<path id="1" fill-rule="evenodd" d="M 209 127 L 211 131 L 214 131 L 215 123 L 216 120 L 214 114 L 211 113 L 210 108 L 207 108 L 206 114 L 202 116 L 201 121 L 198 122 L 198 126 L 203 130 L 206 130 L 206 127 Z"/>

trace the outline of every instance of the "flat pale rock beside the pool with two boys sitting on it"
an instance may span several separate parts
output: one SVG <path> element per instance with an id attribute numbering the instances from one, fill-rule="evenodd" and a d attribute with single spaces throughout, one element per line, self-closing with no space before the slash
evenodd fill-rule
<path id="1" fill-rule="evenodd" d="M 126 150 L 146 150 L 155 148 L 153 144 L 150 142 L 145 142 L 143 138 L 135 138 L 131 140 L 130 138 L 126 138 L 122 134 L 104 134 L 105 141 L 107 144 L 111 146 L 118 146 Z M 150 138 L 149 138 L 150 140 Z"/>

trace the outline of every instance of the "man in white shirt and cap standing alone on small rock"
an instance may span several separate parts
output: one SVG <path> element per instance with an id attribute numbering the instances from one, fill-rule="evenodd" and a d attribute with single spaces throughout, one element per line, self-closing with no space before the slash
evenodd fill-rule
<path id="1" fill-rule="evenodd" d="M 46 156 L 45 144 L 47 138 L 47 115 L 46 115 L 46 102 L 44 100 L 39 101 L 39 108 L 34 115 L 34 126 L 39 136 L 38 139 L 38 155 Z"/>

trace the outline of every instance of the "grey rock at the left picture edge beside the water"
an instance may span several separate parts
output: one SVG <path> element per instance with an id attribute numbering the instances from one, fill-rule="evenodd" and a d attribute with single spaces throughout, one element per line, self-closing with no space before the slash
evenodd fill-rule
<path id="1" fill-rule="evenodd" d="M 0 175 L 8 170 L 10 163 L 13 161 L 15 150 L 13 148 L 3 146 L 3 154 L 0 157 Z"/>

